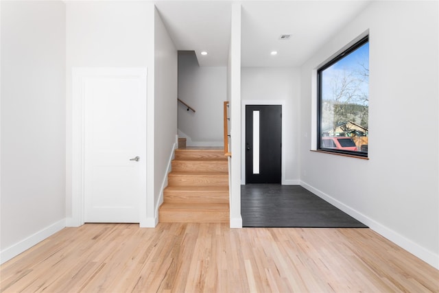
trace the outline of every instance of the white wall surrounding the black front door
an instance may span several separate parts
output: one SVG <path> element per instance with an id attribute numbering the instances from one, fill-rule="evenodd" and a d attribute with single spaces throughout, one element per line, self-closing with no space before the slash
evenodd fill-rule
<path id="1" fill-rule="evenodd" d="M 300 124 L 300 70 L 287 67 L 244 67 L 241 69 L 241 101 L 246 104 L 283 104 L 282 183 L 298 185 L 299 124 Z M 244 109 L 245 110 L 245 109 Z M 245 145 L 245 121 L 242 117 L 241 133 Z M 245 150 L 243 149 L 244 153 Z M 245 156 L 241 158 L 241 180 L 245 181 Z"/>

